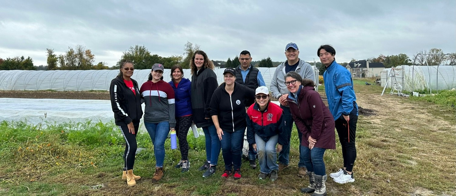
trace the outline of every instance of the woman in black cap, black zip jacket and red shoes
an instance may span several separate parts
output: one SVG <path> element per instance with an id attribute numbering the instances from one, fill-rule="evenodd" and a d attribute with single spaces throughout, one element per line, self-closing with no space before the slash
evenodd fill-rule
<path id="1" fill-rule="evenodd" d="M 233 177 L 241 178 L 241 155 L 244 142 L 245 106 L 254 102 L 255 91 L 237 82 L 236 70 L 226 68 L 223 72 L 224 84 L 212 95 L 210 113 L 222 146 L 225 171 L 222 177 L 228 178 L 234 167 Z"/>

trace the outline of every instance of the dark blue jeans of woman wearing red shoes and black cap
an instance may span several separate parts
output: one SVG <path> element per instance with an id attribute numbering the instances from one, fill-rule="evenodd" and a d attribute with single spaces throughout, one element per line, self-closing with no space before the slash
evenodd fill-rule
<path id="1" fill-rule="evenodd" d="M 222 140 L 222 155 L 225 161 L 225 170 L 241 169 L 242 146 L 244 144 L 245 129 L 227 132 L 223 131 Z"/>

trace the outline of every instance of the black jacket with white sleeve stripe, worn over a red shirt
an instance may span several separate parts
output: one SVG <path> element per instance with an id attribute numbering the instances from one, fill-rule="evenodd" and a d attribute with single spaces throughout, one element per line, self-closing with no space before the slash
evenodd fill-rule
<path id="1" fill-rule="evenodd" d="M 124 79 L 116 77 L 111 80 L 109 95 L 111 96 L 111 107 L 114 112 L 114 120 L 117 126 L 127 126 L 130 122 L 139 125 L 143 115 L 141 107 L 141 93 L 138 82 L 133 80 L 135 93 L 125 84 Z"/>

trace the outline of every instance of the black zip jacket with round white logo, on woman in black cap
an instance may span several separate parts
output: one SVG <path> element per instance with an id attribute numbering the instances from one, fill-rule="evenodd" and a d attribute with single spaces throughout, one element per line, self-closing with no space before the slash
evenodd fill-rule
<path id="1" fill-rule="evenodd" d="M 245 130 L 245 104 L 252 105 L 255 91 L 247 86 L 234 83 L 234 90 L 231 96 L 225 90 L 226 84 L 220 85 L 212 95 L 211 116 L 218 116 L 218 124 L 223 131 L 234 132 Z"/>

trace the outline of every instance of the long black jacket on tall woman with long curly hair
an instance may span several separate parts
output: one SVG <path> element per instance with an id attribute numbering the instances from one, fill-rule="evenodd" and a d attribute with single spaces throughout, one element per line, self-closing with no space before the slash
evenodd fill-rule
<path id="1" fill-rule="evenodd" d="M 209 104 L 212 93 L 217 88 L 217 75 L 211 69 L 201 68 L 193 72 L 192 75 L 192 112 L 193 122 L 197 127 L 211 126 L 211 115 L 209 114 Z M 209 118 L 208 120 L 204 118 Z"/>

